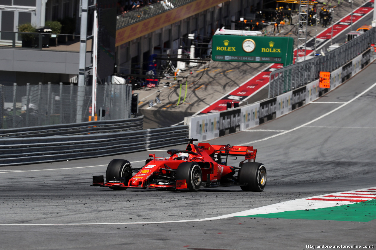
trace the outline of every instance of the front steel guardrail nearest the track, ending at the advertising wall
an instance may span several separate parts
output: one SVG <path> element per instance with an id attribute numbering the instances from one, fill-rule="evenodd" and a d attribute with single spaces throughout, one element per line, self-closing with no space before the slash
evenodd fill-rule
<path id="1" fill-rule="evenodd" d="M 100 133 L 1 139 L 0 166 L 126 154 L 185 143 L 188 126 Z"/>

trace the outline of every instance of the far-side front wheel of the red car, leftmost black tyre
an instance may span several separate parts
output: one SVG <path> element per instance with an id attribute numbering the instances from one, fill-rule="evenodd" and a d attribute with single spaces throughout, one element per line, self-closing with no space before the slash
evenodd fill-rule
<path id="1" fill-rule="evenodd" d="M 126 184 L 132 178 L 132 165 L 129 161 L 123 159 L 114 159 L 110 161 L 106 170 L 106 182 L 116 181 L 125 178 Z M 124 187 L 110 187 L 113 190 L 126 190 Z"/>

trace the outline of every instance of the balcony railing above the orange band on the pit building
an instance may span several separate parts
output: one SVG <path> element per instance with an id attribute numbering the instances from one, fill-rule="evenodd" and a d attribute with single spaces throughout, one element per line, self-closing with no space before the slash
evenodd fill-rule
<path id="1" fill-rule="evenodd" d="M 121 29 L 130 24 L 137 23 L 162 12 L 169 11 L 173 8 L 194 2 L 195 0 L 164 0 L 143 8 L 135 9 L 117 16 L 116 29 Z"/>

